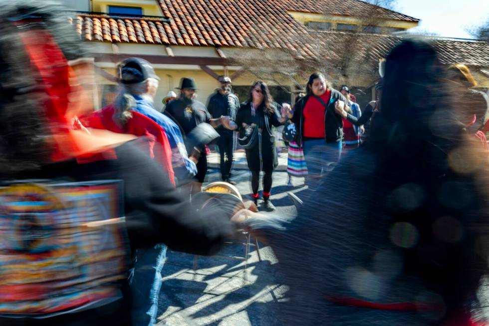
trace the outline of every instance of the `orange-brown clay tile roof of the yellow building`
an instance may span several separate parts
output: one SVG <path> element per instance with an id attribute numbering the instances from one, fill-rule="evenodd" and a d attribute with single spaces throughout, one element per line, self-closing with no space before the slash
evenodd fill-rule
<path id="1" fill-rule="evenodd" d="M 371 4 L 359 0 L 155 0 L 162 9 L 159 18 L 114 18 L 79 14 L 70 19 L 87 41 L 133 42 L 165 45 L 284 48 L 297 57 L 337 59 L 332 48 L 348 37 L 339 31 L 312 31 L 295 20 L 289 11 L 333 15 L 361 14 Z M 377 7 L 390 19 L 418 22 L 419 19 Z M 318 37 L 319 36 L 319 37 Z M 357 43 L 360 55 L 385 55 L 398 36 L 365 34 Z M 319 47 L 325 50 L 318 52 Z M 365 43 L 365 44 L 363 44 Z M 434 38 L 433 44 L 444 63 L 489 66 L 486 42 Z M 375 46 L 374 46 L 375 45 Z"/>

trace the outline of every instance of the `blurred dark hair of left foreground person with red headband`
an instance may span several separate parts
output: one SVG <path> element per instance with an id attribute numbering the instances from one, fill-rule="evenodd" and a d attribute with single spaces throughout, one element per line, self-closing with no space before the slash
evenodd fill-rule
<path id="1" fill-rule="evenodd" d="M 32 68 L 19 31 L 7 18 L 35 16 L 53 36 L 64 56 L 84 54 L 79 37 L 51 1 L 2 1 L 0 4 L 0 170 L 3 175 L 40 168 L 49 157 L 50 130 L 46 123 L 46 92 Z"/>

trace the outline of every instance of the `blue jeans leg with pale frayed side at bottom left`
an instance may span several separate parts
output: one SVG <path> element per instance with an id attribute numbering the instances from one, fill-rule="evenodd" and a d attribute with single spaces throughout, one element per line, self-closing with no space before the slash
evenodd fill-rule
<path id="1" fill-rule="evenodd" d="M 132 322 L 134 326 L 152 326 L 158 317 L 158 297 L 161 289 L 161 271 L 165 265 L 167 246 L 138 249 L 134 268 L 129 277 L 132 293 Z"/>

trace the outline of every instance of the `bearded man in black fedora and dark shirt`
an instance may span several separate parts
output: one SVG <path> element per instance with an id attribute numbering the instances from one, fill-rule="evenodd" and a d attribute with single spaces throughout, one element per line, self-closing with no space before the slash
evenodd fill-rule
<path id="1" fill-rule="evenodd" d="M 184 77 L 180 80 L 180 95 L 176 100 L 168 103 L 165 114 L 172 118 L 180 127 L 184 137 L 188 135 L 197 125 L 209 123 L 217 128 L 222 123 L 222 118 L 213 119 L 204 103 L 195 99 L 197 85 L 191 77 Z M 195 194 L 202 190 L 202 183 L 207 173 L 207 154 L 204 147 L 198 148 L 200 157 L 197 162 L 197 174 L 195 181 L 190 184 L 190 193 Z"/>

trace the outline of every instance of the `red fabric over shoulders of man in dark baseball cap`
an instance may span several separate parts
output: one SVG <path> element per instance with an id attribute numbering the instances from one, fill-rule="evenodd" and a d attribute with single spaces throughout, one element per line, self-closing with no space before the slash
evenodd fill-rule
<path id="1" fill-rule="evenodd" d="M 132 111 L 132 118 L 129 119 L 124 128 L 119 127 L 113 119 L 114 107 L 108 105 L 101 110 L 80 118 L 80 121 L 87 127 L 95 129 L 105 129 L 112 132 L 131 134 L 135 136 L 148 136 L 148 141 L 140 139 L 139 145 L 160 163 L 163 170 L 168 173 L 170 181 L 175 185 L 175 173 L 172 167 L 172 148 L 165 130 L 147 116 Z M 156 145 L 156 146 L 155 146 Z"/>

